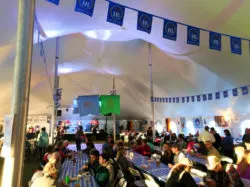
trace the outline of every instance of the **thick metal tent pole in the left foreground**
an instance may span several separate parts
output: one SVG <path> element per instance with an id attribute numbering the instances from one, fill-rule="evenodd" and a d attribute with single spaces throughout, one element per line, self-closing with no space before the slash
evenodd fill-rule
<path id="1" fill-rule="evenodd" d="M 18 1 L 16 56 L 11 103 L 11 119 L 6 124 L 6 148 L 2 186 L 22 185 L 26 123 L 29 110 L 30 79 L 33 53 L 35 0 Z M 2 153 L 3 154 L 3 153 Z"/>

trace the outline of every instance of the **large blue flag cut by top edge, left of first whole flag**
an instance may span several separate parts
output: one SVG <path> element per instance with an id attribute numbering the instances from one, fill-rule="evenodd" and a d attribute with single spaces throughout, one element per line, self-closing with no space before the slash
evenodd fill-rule
<path id="1" fill-rule="evenodd" d="M 75 11 L 93 16 L 95 0 L 76 0 Z"/>

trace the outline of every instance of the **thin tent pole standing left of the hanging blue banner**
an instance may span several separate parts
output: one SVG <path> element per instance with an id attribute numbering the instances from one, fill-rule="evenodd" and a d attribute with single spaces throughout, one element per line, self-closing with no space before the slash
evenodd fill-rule
<path id="1" fill-rule="evenodd" d="M 56 93 L 59 88 L 59 76 L 58 76 L 58 64 L 59 64 L 59 37 L 56 38 L 56 56 L 55 56 L 55 73 L 54 73 L 54 106 L 53 106 L 53 114 L 52 114 L 52 144 L 55 142 L 55 126 L 57 125 L 57 98 Z"/>

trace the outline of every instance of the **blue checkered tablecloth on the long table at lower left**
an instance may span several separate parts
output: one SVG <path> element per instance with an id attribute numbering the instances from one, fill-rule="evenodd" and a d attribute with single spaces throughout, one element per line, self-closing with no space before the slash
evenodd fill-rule
<path id="1" fill-rule="evenodd" d="M 76 164 L 69 159 L 66 159 L 62 165 L 59 180 L 65 180 L 68 175 L 70 178 L 76 177 L 79 174 L 79 170 L 82 168 L 84 163 L 88 162 L 88 156 L 86 154 L 76 156 Z M 89 180 L 87 177 L 82 176 L 79 180 L 80 187 L 98 187 L 95 177 L 90 175 Z M 71 182 L 69 187 L 75 187 L 75 182 Z"/>

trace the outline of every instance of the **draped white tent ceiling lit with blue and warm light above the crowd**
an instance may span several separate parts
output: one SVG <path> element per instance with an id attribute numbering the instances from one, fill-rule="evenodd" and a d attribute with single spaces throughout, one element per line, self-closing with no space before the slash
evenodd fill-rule
<path id="1" fill-rule="evenodd" d="M 30 113 L 44 114 L 52 104 L 51 84 L 55 37 L 60 38 L 60 87 L 63 105 L 85 94 L 108 94 L 112 77 L 121 95 L 121 117 L 151 118 L 148 42 L 153 44 L 154 94 L 158 97 L 215 93 L 249 84 L 249 45 L 231 54 L 229 38 L 222 51 L 208 48 L 201 32 L 200 47 L 186 44 L 186 28 L 179 26 L 176 42 L 162 38 L 162 20 L 154 18 L 151 34 L 136 30 L 137 13 L 126 10 L 122 28 L 106 22 L 108 2 L 96 0 L 93 17 L 74 11 L 75 0 L 55 6 L 36 1 L 39 24 L 46 35 L 46 66 L 34 44 Z M 250 38 L 250 1 L 244 0 L 114 0 L 164 18 L 238 37 Z M 10 111 L 18 0 L 1 1 L 0 115 Z M 94 39 L 93 39 L 94 38 Z M 34 42 L 36 43 L 36 37 Z M 48 76 L 49 75 L 49 76 Z M 51 80 L 53 82 L 53 80 Z M 155 104 L 156 117 L 212 116 L 250 113 L 249 96 L 189 104 Z"/>

